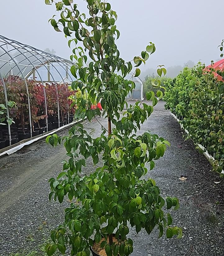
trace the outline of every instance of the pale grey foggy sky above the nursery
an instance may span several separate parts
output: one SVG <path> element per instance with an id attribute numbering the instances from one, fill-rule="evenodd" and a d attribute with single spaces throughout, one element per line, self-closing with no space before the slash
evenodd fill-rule
<path id="1" fill-rule="evenodd" d="M 85 11 L 83 0 L 74 0 Z M 142 70 L 157 65 L 183 65 L 188 60 L 210 64 L 219 59 L 217 46 L 224 38 L 222 12 L 224 1 L 211 0 L 109 0 L 117 12 L 121 32 L 117 46 L 126 61 L 145 50 L 152 41 L 156 52 Z M 63 33 L 48 24 L 55 5 L 44 0 L 1 0 L 0 34 L 40 49 L 53 48 L 58 56 L 69 58 L 71 50 Z M 218 25 L 220 24 L 220 26 Z"/>

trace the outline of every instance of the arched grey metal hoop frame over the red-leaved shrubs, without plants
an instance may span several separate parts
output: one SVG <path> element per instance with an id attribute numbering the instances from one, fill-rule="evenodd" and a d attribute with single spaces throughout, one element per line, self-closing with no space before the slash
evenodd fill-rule
<path id="1" fill-rule="evenodd" d="M 20 59 L 18 61 L 18 58 Z M 23 44 L 16 40 L 9 39 L 5 36 L 0 35 L 0 82 L 2 82 L 5 102 L 7 108 L 7 116 L 9 117 L 9 108 L 8 108 L 8 98 L 7 98 L 7 89 L 4 78 L 7 78 L 9 75 L 19 76 L 24 80 L 26 92 L 28 95 L 28 111 L 29 111 L 29 123 L 30 123 L 30 135 L 32 137 L 32 118 L 31 118 L 31 108 L 30 108 L 30 97 L 29 97 L 29 89 L 27 85 L 27 79 L 33 75 L 33 80 L 35 80 L 35 75 L 39 76 L 39 81 L 43 85 L 43 94 L 45 101 L 45 114 L 48 116 L 47 109 L 47 99 L 45 92 L 45 82 L 53 82 L 56 87 L 57 94 L 57 114 L 58 114 L 58 127 L 60 127 L 60 106 L 58 99 L 58 89 L 57 85 L 59 81 L 56 81 L 53 72 L 53 69 L 56 74 L 59 75 L 61 81 L 66 84 L 71 82 L 73 78 L 69 73 L 69 69 L 74 63 L 71 60 L 66 60 L 59 56 L 53 55 L 51 53 L 42 51 L 33 46 Z M 47 72 L 47 80 L 43 79 L 41 76 L 41 72 L 39 69 L 43 67 Z M 5 74 L 3 75 L 3 71 L 5 70 Z M 60 70 L 64 70 L 66 76 L 63 77 Z M 68 113 L 69 114 L 69 113 Z M 46 118 L 46 126 L 48 131 L 48 118 Z M 11 145 L 11 129 L 8 124 L 8 133 L 9 133 L 9 144 Z"/>

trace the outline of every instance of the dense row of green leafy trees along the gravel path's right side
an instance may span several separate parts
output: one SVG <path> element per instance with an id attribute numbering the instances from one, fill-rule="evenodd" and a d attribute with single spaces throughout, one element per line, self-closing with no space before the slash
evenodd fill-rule
<path id="1" fill-rule="evenodd" d="M 205 71 L 199 63 L 166 82 L 166 109 L 175 114 L 190 138 L 205 147 L 216 160 L 215 171 L 224 169 L 224 83 L 217 80 L 213 70 Z M 222 77 L 224 72 L 219 73 Z M 202 151 L 199 149 L 199 151 Z"/>

